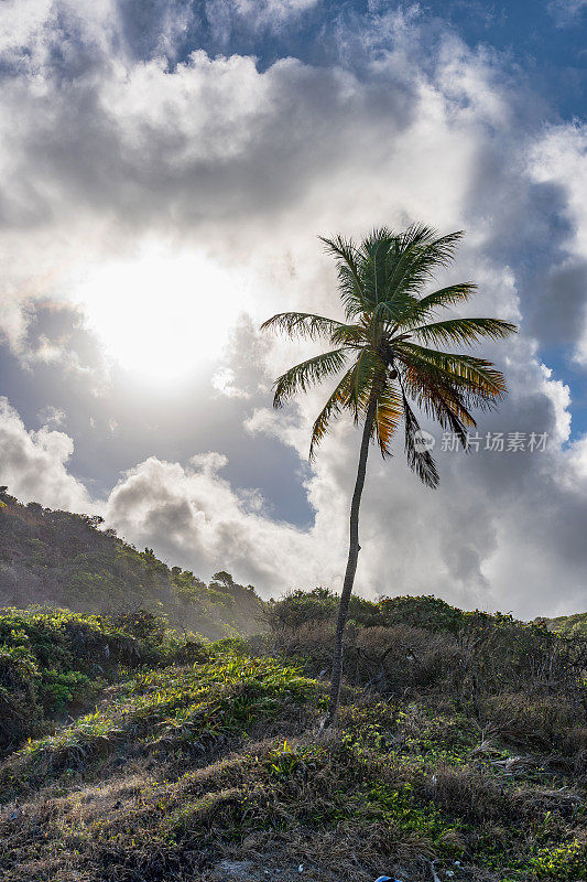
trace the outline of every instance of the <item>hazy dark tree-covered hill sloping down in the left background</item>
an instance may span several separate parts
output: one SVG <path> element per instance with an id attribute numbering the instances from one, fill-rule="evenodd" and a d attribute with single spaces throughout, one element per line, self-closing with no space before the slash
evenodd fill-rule
<path id="1" fill-rule="evenodd" d="M 259 631 L 263 604 L 252 585 L 224 571 L 206 585 L 101 526 L 99 517 L 21 505 L 0 487 L 0 606 L 105 615 L 146 609 L 211 638 Z"/>

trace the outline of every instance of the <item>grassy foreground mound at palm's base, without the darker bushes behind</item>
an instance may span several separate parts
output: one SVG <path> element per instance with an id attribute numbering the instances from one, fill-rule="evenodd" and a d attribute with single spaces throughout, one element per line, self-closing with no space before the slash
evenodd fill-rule
<path id="1" fill-rule="evenodd" d="M 585 792 L 544 757 L 508 766 L 515 754 L 483 745 L 466 713 L 354 689 L 340 736 L 318 738 L 322 684 L 210 653 L 137 673 L 7 759 L 7 882 L 205 880 L 227 856 L 294 856 L 308 872 L 335 861 L 363 882 L 431 879 L 431 861 L 443 882 L 587 875 Z"/>

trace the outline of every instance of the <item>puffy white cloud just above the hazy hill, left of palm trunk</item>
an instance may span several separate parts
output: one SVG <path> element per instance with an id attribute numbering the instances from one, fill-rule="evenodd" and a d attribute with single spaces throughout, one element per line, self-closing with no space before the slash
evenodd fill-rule
<path id="1" fill-rule="evenodd" d="M 338 566 L 334 549 L 318 562 L 312 555 L 313 531 L 260 514 L 258 496 L 237 495 L 221 477 L 226 464 L 214 452 L 193 456 L 185 466 L 152 456 L 113 488 L 107 523 L 197 572 L 231 570 L 265 596 L 320 577 L 333 579 Z"/>

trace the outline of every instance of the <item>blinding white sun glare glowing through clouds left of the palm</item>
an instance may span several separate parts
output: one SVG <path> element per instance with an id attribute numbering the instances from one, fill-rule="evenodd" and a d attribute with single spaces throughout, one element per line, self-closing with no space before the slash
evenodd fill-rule
<path id="1" fill-rule="evenodd" d="M 110 358 L 149 380 L 169 381 L 220 353 L 241 309 L 241 288 L 202 255 L 151 250 L 91 270 L 74 294 Z"/>

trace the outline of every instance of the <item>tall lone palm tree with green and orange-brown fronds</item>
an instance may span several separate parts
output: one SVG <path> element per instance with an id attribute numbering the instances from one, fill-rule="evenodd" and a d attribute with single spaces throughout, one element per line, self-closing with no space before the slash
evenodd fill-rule
<path id="1" fill-rule="evenodd" d="M 290 368 L 274 384 L 273 405 L 279 408 L 295 392 L 306 391 L 327 377 L 338 378 L 314 422 L 311 461 L 341 411 L 349 410 L 355 424 L 363 424 L 335 636 L 327 718 L 330 723 L 336 721 L 338 709 L 343 641 L 360 549 L 359 505 L 370 440 L 376 439 L 382 455 L 389 455 L 393 435 L 403 420 L 407 463 L 426 486 L 434 488 L 438 472 L 430 450 L 422 443 L 425 437 L 421 434 L 412 402 L 443 429 L 455 432 L 467 449 L 467 430 L 476 426 L 471 410 L 493 409 L 506 392 L 503 376 L 490 362 L 437 348 L 450 343 L 457 347 L 471 345 L 480 337 L 501 340 L 517 331 L 515 325 L 499 319 L 431 321 L 435 310 L 466 301 L 476 291 L 475 284 L 464 282 L 423 293 L 434 271 L 452 261 L 461 236 L 463 233 L 453 233 L 438 237 L 430 227 L 412 225 L 401 234 L 381 227 L 359 245 L 341 236 L 320 237 L 337 262 L 338 293 L 346 321 L 306 312 L 282 312 L 262 325 L 290 336 L 325 337 L 335 346 Z"/>

